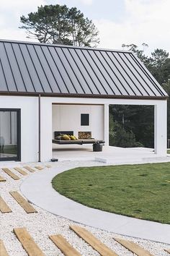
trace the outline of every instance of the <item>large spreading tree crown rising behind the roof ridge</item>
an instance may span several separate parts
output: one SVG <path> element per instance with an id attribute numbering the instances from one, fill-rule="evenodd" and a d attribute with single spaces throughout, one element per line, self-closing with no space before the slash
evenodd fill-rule
<path id="1" fill-rule="evenodd" d="M 20 17 L 22 28 L 28 38 L 36 38 L 40 43 L 67 44 L 73 46 L 97 46 L 98 30 L 91 20 L 76 7 L 66 5 L 45 5 L 37 7 L 27 17 Z"/>

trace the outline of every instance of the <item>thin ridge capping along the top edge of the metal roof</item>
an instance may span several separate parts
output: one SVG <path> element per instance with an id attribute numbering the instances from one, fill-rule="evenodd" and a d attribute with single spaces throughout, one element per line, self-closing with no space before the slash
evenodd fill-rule
<path id="1" fill-rule="evenodd" d="M 30 42 L 30 41 L 19 41 L 19 40 L 7 40 L 7 39 L 0 39 L 0 42 L 3 43 L 20 43 L 20 44 L 30 44 L 30 45 L 37 45 L 37 46 L 49 46 L 49 47 L 63 47 L 63 48 L 77 48 L 81 50 L 92 50 L 92 51 L 115 51 L 115 52 L 122 52 L 122 53 L 133 53 L 133 51 L 124 51 L 124 50 L 115 50 L 115 49 L 107 49 L 107 48 L 94 48 L 94 47 L 86 47 L 86 46 L 68 46 L 63 44 L 52 44 L 52 43 L 40 43 L 40 42 Z"/>

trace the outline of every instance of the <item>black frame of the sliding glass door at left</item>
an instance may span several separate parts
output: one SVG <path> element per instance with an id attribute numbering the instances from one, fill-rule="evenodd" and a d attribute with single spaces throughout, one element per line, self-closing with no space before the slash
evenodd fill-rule
<path id="1" fill-rule="evenodd" d="M 17 112 L 17 156 L 1 158 L 0 161 L 21 161 L 21 109 L 20 108 L 0 108 L 0 111 Z"/>

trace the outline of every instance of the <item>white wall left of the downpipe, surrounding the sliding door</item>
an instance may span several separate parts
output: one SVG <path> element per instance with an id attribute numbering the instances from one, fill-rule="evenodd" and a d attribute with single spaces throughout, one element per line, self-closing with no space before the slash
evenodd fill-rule
<path id="1" fill-rule="evenodd" d="M 0 108 L 21 109 L 21 161 L 38 159 L 37 97 L 0 96 Z"/>

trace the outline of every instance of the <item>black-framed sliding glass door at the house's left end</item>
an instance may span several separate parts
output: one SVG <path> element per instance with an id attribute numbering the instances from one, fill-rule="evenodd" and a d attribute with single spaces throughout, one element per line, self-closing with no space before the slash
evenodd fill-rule
<path id="1" fill-rule="evenodd" d="M 20 161 L 20 110 L 0 108 L 0 161 Z"/>

